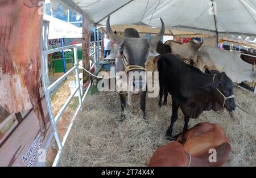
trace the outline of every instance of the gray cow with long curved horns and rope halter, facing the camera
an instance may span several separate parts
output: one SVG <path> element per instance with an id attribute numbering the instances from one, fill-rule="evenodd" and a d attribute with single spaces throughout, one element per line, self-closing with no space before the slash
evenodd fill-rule
<path id="1" fill-rule="evenodd" d="M 139 37 L 139 33 L 134 28 L 126 28 L 125 29 L 125 37 L 120 37 L 116 35 L 109 23 L 109 19 L 106 21 L 106 32 L 108 33 L 110 39 L 112 39 L 117 45 L 119 45 L 119 50 L 113 54 L 110 54 L 107 58 L 113 59 L 115 58 L 115 73 L 120 73 L 126 71 L 126 76 L 129 78 L 130 71 L 137 71 L 141 73 L 145 68 L 146 62 L 148 58 L 159 56 L 154 50 L 150 50 L 151 46 L 157 43 L 163 36 L 165 26 L 163 20 L 160 18 L 162 22 L 162 28 L 158 35 L 156 35 L 152 39 L 143 39 Z M 137 66 L 137 67 L 134 67 Z M 129 70 L 127 70 L 129 69 Z M 129 73 L 127 72 L 129 71 Z M 129 79 L 130 82 L 126 80 L 127 84 L 133 85 L 135 88 L 139 88 L 139 108 L 143 113 L 143 118 L 146 118 L 146 90 L 141 90 L 143 81 L 146 81 L 146 75 L 142 75 L 141 78 Z M 126 87 L 127 89 L 127 87 Z M 126 90 L 127 91 L 127 90 Z M 127 101 L 125 98 L 125 90 L 119 91 L 119 96 L 121 100 L 121 120 L 125 119 L 125 108 L 127 106 Z M 133 92 L 129 91 L 129 100 L 128 104 L 130 104 L 130 100 L 132 98 Z"/>

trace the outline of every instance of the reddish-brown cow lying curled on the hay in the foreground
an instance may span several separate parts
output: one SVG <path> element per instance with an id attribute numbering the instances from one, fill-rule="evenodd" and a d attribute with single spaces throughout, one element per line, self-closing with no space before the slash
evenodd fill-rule
<path id="1" fill-rule="evenodd" d="M 216 150 L 216 160 L 211 149 Z M 221 126 L 204 122 L 189 129 L 177 142 L 156 150 L 148 166 L 222 166 L 230 151 L 228 138 Z"/>

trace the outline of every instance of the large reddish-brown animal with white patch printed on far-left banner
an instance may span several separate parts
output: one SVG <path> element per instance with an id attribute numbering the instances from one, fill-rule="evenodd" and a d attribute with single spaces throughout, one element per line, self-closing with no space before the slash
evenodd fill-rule
<path id="1" fill-rule="evenodd" d="M 43 132 L 39 2 L 0 0 L 0 105 L 9 113 L 33 107 Z"/>

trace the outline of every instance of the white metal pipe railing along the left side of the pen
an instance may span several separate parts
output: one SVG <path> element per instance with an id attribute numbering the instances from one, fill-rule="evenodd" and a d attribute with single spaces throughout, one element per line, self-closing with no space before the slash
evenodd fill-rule
<path id="1" fill-rule="evenodd" d="M 89 86 L 87 87 L 84 96 L 82 96 L 82 92 L 81 92 L 81 88 L 80 88 L 80 79 L 79 79 L 79 61 L 77 59 L 77 48 L 82 46 L 82 44 L 76 44 L 76 45 L 71 45 L 71 46 L 64 46 L 61 48 L 56 48 L 56 49 L 49 49 L 49 50 L 44 50 L 42 52 L 42 81 L 43 81 L 43 90 L 44 90 L 44 94 L 45 94 L 45 98 L 46 98 L 46 103 L 47 103 L 47 108 L 48 108 L 48 112 L 49 112 L 49 118 L 51 120 L 51 125 L 52 125 L 52 129 L 53 129 L 53 134 L 50 135 L 50 137 L 55 137 L 56 142 L 57 142 L 57 146 L 59 147 L 59 151 L 57 152 L 56 158 L 53 162 L 53 167 L 57 166 L 57 164 L 59 163 L 60 160 L 60 156 L 61 156 L 61 152 L 63 150 L 63 147 L 65 145 L 65 142 L 67 141 L 69 132 L 72 128 L 73 125 L 73 121 L 75 120 L 77 113 L 79 113 L 79 111 L 82 108 L 82 102 L 85 99 L 85 96 L 87 95 L 89 88 L 91 86 L 91 82 L 89 83 Z M 72 69 L 70 69 L 69 71 L 67 71 L 67 73 L 65 73 L 64 75 L 62 75 L 59 79 L 57 79 L 54 83 L 52 83 L 49 86 L 49 82 L 48 82 L 48 60 L 47 60 L 47 55 L 48 54 L 52 54 L 55 52 L 59 52 L 61 50 L 65 50 L 65 49 L 72 49 L 73 48 L 73 52 L 74 52 L 74 67 L 72 67 Z M 95 55 L 95 52 L 90 54 L 90 56 Z M 93 66 L 92 66 L 93 67 Z M 91 67 L 91 69 L 92 69 Z M 69 76 L 71 75 L 73 72 L 75 71 L 75 76 L 76 76 L 76 83 L 77 83 L 77 88 L 75 90 L 75 92 L 73 92 L 69 98 L 65 101 L 64 105 L 61 107 L 60 111 L 57 113 L 57 115 L 54 117 L 53 116 L 53 111 L 52 111 L 52 106 L 51 106 L 51 98 L 50 98 L 50 93 L 53 91 L 54 88 L 59 87 L 60 84 Z M 79 92 L 79 106 L 76 109 L 75 115 L 72 118 L 71 123 L 68 126 L 68 130 L 65 133 L 64 137 L 63 137 L 63 141 L 61 142 L 60 136 L 59 136 L 59 132 L 57 131 L 57 122 L 60 120 L 61 116 L 63 116 L 63 113 L 65 111 L 65 109 L 68 107 L 69 103 L 71 102 L 71 100 L 74 98 L 75 94 Z M 49 138 L 49 140 L 51 140 L 52 138 Z"/>

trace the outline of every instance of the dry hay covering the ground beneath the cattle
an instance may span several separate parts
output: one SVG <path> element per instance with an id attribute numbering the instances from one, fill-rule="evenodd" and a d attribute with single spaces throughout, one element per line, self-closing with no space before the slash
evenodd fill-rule
<path id="1" fill-rule="evenodd" d="M 236 104 L 256 116 L 256 97 L 252 92 L 234 88 Z M 171 120 L 171 97 L 158 107 L 158 98 L 146 99 L 148 122 L 141 117 L 138 96 L 134 108 L 126 109 L 126 120 L 119 122 L 120 103 L 117 93 L 101 92 L 88 96 L 77 116 L 59 166 L 147 166 L 152 154 L 162 145 Z M 237 108 L 203 112 L 191 119 L 189 128 L 200 122 L 219 124 L 229 138 L 232 152 L 225 166 L 256 166 L 256 118 Z M 174 134 L 182 132 L 183 113 L 174 125 Z"/>

